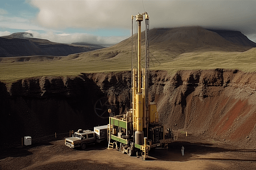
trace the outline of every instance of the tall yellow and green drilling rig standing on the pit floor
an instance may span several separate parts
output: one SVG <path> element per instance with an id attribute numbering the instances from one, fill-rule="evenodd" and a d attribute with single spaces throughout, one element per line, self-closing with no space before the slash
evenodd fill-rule
<path id="1" fill-rule="evenodd" d="M 141 25 L 145 19 L 145 67 L 141 66 Z M 148 158 L 148 152 L 156 147 L 168 147 L 173 134 L 170 129 L 165 130 L 158 121 L 156 103 L 148 99 L 148 66 L 149 66 L 149 17 L 147 12 L 131 15 L 138 22 L 138 64 L 137 69 L 131 70 L 131 109 L 118 116 L 109 117 L 108 148 L 116 148 L 123 154 L 132 156 L 142 155 Z M 133 35 L 132 35 L 133 36 Z M 133 43 L 133 42 L 132 42 Z M 109 109 L 109 113 L 111 110 Z M 167 133 L 166 133 L 167 131 Z"/>

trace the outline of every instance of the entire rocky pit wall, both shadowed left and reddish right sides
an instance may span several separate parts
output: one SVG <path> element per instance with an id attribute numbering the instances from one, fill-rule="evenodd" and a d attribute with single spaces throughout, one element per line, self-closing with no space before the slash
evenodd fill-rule
<path id="1" fill-rule="evenodd" d="M 0 83 L 1 129 L 6 141 L 108 124 L 130 107 L 130 72 L 40 77 Z M 151 101 L 173 129 L 255 148 L 254 73 L 237 70 L 151 71 Z M 10 131 L 12 132 L 10 135 Z"/>

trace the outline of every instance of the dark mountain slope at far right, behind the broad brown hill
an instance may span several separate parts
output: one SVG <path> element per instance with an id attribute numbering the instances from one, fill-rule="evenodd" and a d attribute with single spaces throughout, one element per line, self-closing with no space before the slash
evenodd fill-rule
<path id="1" fill-rule="evenodd" d="M 230 30 L 222 30 L 222 29 L 208 29 L 208 30 L 218 33 L 218 35 L 224 37 L 224 39 L 230 42 L 233 42 L 234 44 L 256 47 L 256 43 L 249 40 L 240 31 L 230 31 Z"/>

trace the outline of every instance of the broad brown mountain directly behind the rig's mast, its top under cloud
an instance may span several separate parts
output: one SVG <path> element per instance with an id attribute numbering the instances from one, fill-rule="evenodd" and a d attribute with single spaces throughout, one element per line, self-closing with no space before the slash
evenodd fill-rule
<path id="1" fill-rule="evenodd" d="M 243 37 L 246 42 L 247 37 Z M 133 53 L 136 56 L 137 34 L 133 36 Z M 203 27 L 153 28 L 149 31 L 151 56 L 158 60 L 174 59 L 191 52 L 245 52 L 252 46 L 234 44 L 213 31 Z M 144 52 L 144 32 L 142 32 L 142 52 Z M 131 37 L 108 48 L 79 54 L 84 59 L 125 59 L 131 56 Z"/>

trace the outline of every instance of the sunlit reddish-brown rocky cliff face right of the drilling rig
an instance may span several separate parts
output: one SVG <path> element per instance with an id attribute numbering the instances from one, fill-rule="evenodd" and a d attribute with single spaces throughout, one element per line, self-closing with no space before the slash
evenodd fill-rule
<path id="1" fill-rule="evenodd" d="M 222 69 L 155 73 L 151 92 L 167 126 L 255 148 L 254 75 Z"/>

